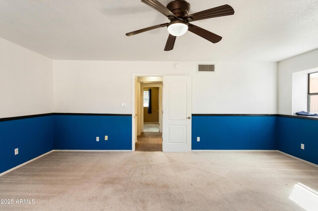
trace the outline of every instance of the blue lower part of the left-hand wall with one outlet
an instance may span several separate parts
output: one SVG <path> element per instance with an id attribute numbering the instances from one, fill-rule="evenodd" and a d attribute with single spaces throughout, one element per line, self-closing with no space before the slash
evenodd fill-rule
<path id="1" fill-rule="evenodd" d="M 0 173 L 53 150 L 53 131 L 53 115 L 0 122 Z"/>

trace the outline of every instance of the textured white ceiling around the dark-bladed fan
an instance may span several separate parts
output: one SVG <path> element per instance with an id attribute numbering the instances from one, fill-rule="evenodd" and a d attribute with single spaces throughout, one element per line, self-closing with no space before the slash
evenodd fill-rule
<path id="1" fill-rule="evenodd" d="M 166 5 L 169 0 L 159 0 Z M 140 0 L 0 0 L 0 37 L 52 59 L 279 61 L 318 48 L 318 0 L 189 0 L 190 13 L 230 4 L 235 14 L 193 22 L 223 37 L 187 32 L 164 52 L 168 22 Z"/>

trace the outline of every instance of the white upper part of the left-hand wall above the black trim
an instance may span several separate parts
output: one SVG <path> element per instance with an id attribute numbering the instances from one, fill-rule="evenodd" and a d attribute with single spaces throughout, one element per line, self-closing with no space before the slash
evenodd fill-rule
<path id="1" fill-rule="evenodd" d="M 53 61 L 0 38 L 0 118 L 53 112 Z"/>

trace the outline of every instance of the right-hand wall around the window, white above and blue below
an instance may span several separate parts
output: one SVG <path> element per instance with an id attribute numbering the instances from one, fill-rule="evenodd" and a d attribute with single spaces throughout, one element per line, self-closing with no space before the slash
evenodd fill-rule
<path id="1" fill-rule="evenodd" d="M 277 130 L 278 150 L 316 164 L 318 118 L 291 115 L 301 111 L 297 109 L 307 109 L 306 76 L 304 83 L 301 83 L 298 74 L 317 71 L 317 58 L 318 50 L 315 50 L 278 62 L 278 113 L 287 116 L 279 117 Z M 301 90 L 303 93 L 299 94 Z M 305 150 L 301 149 L 301 144 L 305 144 Z"/>

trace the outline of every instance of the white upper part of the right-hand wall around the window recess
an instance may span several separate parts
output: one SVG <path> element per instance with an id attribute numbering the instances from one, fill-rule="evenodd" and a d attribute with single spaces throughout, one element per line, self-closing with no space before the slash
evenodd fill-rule
<path id="1" fill-rule="evenodd" d="M 279 114 L 293 114 L 293 73 L 316 67 L 318 67 L 318 50 L 278 62 Z"/>

